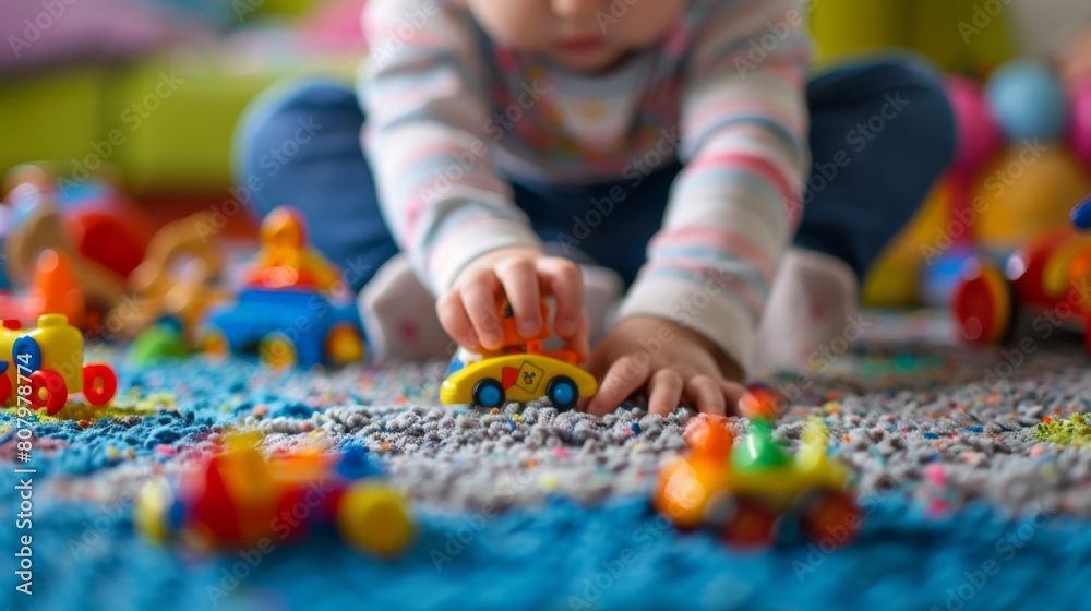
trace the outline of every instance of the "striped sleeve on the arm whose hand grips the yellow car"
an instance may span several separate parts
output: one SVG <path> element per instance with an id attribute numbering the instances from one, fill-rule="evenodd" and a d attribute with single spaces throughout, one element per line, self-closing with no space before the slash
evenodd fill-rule
<path id="1" fill-rule="evenodd" d="M 481 254 L 541 248 L 487 137 L 485 75 L 465 9 L 370 0 L 361 64 L 364 149 L 383 215 L 435 293 Z"/>

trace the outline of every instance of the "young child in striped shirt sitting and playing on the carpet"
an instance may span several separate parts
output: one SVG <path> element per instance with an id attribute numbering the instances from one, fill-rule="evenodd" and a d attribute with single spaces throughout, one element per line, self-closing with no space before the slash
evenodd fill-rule
<path id="1" fill-rule="evenodd" d="M 639 391 L 731 411 L 757 345 L 805 362 L 844 333 L 954 148 L 936 74 L 906 57 L 808 83 L 804 22 L 791 0 L 370 0 L 358 91 L 265 95 L 237 178 L 364 271 L 387 356 L 443 356 L 433 304 L 475 349 L 500 342 L 500 291 L 527 336 L 553 297 L 601 380 L 590 412 Z"/>

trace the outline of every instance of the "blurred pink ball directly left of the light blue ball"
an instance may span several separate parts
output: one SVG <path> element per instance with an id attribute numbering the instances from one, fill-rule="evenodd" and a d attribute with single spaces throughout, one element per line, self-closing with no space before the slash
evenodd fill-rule
<path id="1" fill-rule="evenodd" d="M 1000 129 L 976 83 L 962 76 L 947 79 L 947 96 L 955 111 L 958 151 L 955 169 L 972 171 L 1000 146 Z"/>

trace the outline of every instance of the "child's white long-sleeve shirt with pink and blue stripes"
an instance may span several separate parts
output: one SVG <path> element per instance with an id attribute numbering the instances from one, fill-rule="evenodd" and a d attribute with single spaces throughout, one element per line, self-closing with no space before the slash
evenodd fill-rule
<path id="1" fill-rule="evenodd" d="M 746 368 L 810 165 L 803 21 L 794 0 L 691 0 L 659 45 L 589 76 L 499 46 L 457 2 L 370 0 L 363 142 L 392 232 L 442 293 L 485 252 L 541 245 L 502 173 L 638 188 L 681 160 L 620 315 L 672 320 Z"/>

